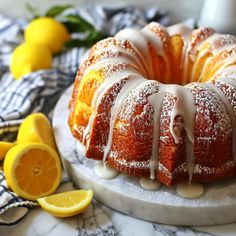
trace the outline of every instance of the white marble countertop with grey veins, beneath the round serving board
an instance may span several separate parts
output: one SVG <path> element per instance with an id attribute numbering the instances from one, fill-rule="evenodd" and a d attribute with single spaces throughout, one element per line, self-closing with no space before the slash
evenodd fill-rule
<path id="1" fill-rule="evenodd" d="M 71 182 L 59 191 L 73 189 Z M 168 226 L 139 220 L 93 201 L 87 211 L 70 218 L 56 218 L 36 207 L 18 224 L 0 226 L 1 236 L 235 236 L 236 223 L 209 227 Z"/>

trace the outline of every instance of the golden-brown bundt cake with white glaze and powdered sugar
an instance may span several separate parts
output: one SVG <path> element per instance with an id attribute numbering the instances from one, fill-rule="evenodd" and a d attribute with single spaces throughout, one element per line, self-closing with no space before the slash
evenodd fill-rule
<path id="1" fill-rule="evenodd" d="M 129 175 L 211 182 L 236 174 L 236 37 L 150 23 L 96 43 L 69 126 L 88 158 Z"/>

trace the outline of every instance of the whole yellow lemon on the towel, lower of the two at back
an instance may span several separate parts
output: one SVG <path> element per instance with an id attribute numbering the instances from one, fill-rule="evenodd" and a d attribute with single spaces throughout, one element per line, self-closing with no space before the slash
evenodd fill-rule
<path id="1" fill-rule="evenodd" d="M 10 71 L 15 79 L 33 71 L 50 69 L 51 67 L 52 54 L 47 47 L 22 43 L 13 51 Z"/>

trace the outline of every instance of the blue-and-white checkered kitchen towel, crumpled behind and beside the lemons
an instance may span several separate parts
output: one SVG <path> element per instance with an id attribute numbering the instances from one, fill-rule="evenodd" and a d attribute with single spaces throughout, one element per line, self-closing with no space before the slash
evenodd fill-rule
<path id="1" fill-rule="evenodd" d="M 73 12 L 71 12 L 73 11 Z M 99 31 L 114 35 L 125 27 L 143 27 L 147 22 L 169 23 L 166 12 L 157 8 L 140 10 L 134 7 L 86 7 L 69 10 L 78 13 Z M 66 14 L 66 13 L 65 13 Z M 74 48 L 54 58 L 54 69 L 37 71 L 14 80 L 9 73 L 12 50 L 21 42 L 27 25 L 0 15 L 0 140 L 13 140 L 24 117 L 43 112 L 49 117 L 62 92 L 74 81 L 75 73 L 87 50 Z M 11 192 L 0 170 L 0 224 L 14 224 L 36 205 Z"/>

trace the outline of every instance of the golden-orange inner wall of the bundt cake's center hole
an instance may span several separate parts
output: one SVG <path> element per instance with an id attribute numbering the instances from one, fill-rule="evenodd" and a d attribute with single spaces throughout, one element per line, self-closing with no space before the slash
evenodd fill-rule
<path id="1" fill-rule="evenodd" d="M 200 40 L 200 39 L 199 39 Z M 217 72 L 219 66 L 217 61 L 212 61 L 206 67 L 206 61 L 211 53 L 193 55 L 186 48 L 183 50 L 183 39 L 179 35 L 173 35 L 170 39 L 171 47 L 169 53 L 166 51 L 156 55 L 155 48 L 150 46 L 150 58 L 145 58 L 148 68 L 149 79 L 155 79 L 164 84 L 186 85 L 191 82 L 206 82 Z M 207 49 L 208 44 L 203 45 L 201 50 Z M 164 54 L 164 55 L 162 55 Z M 220 65 L 220 64 L 219 64 Z M 150 74 L 152 74 L 150 76 Z"/>

